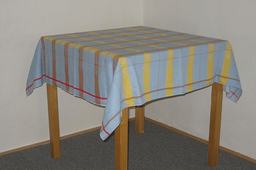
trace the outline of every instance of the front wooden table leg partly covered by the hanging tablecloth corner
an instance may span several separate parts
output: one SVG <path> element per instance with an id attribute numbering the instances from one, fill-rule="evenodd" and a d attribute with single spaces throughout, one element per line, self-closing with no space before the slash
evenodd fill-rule
<path id="1" fill-rule="evenodd" d="M 123 109 L 120 125 L 115 129 L 115 170 L 128 166 L 128 108 Z"/>

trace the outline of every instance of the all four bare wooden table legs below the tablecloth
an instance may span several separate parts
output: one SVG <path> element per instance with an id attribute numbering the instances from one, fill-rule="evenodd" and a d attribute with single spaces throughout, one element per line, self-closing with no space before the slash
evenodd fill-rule
<path id="1" fill-rule="evenodd" d="M 219 83 L 212 85 L 211 110 L 210 110 L 210 131 L 208 146 L 207 165 L 215 167 L 218 165 L 218 153 L 220 143 L 220 122 L 222 111 L 223 86 Z M 54 159 L 61 157 L 59 137 L 59 114 L 57 86 L 47 84 L 48 114 L 51 156 Z M 135 131 L 144 132 L 144 105 L 135 108 Z M 123 109 L 121 124 L 115 129 L 115 170 L 127 169 L 128 158 L 128 107 Z"/>

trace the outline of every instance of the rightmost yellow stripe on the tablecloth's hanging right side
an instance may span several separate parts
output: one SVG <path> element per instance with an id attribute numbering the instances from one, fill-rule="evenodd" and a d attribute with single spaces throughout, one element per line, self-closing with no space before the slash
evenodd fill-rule
<path id="1" fill-rule="evenodd" d="M 232 47 L 229 41 L 227 41 L 226 52 L 225 52 L 225 57 L 224 57 L 222 72 L 221 72 L 222 76 L 228 77 L 229 69 L 231 65 L 231 59 L 232 59 Z M 220 83 L 223 85 L 226 85 L 227 81 L 228 81 L 227 78 L 223 78 L 223 77 L 220 78 Z"/>

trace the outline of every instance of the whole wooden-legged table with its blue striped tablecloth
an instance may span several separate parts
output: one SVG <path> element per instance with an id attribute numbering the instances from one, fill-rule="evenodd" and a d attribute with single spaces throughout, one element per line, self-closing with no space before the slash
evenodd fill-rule
<path id="1" fill-rule="evenodd" d="M 100 136 L 115 130 L 116 169 L 127 169 L 128 107 L 136 106 L 136 132 L 143 133 L 144 103 L 210 85 L 207 164 L 216 166 L 223 90 L 234 102 L 242 94 L 230 42 L 144 26 L 41 37 L 26 94 L 44 82 L 52 157 L 60 157 L 58 86 L 105 106 Z"/>

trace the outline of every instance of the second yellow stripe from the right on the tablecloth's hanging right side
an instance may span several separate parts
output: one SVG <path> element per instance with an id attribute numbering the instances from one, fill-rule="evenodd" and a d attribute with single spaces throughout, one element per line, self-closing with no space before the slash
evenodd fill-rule
<path id="1" fill-rule="evenodd" d="M 212 78 L 213 71 L 213 55 L 214 55 L 214 43 L 209 43 L 209 53 L 208 53 L 208 62 L 207 62 L 207 79 Z M 211 84 L 212 80 L 206 82 L 206 86 Z"/>

